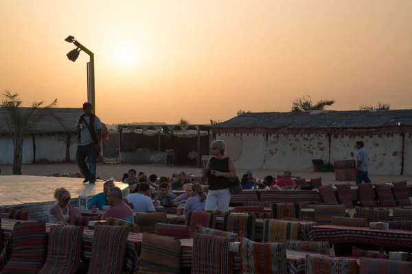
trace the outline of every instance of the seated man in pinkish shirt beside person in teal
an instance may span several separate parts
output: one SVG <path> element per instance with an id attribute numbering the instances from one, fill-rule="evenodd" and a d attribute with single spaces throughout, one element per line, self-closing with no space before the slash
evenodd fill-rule
<path id="1" fill-rule="evenodd" d="M 123 221 L 128 221 L 130 223 L 135 223 L 133 211 L 128 205 L 126 205 L 126 203 L 124 203 L 122 190 L 120 188 L 117 186 L 109 188 L 107 193 L 107 201 L 111 208 L 104 212 L 102 215 L 102 220 L 105 220 L 106 217 L 112 217 L 122 219 Z"/>

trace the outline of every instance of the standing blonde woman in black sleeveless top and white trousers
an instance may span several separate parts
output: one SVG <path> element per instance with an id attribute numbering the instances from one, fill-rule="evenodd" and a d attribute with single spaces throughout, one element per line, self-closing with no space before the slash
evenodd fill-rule
<path id="1" fill-rule="evenodd" d="M 205 210 L 229 211 L 230 188 L 229 179 L 236 178 L 233 160 L 225 157 L 226 144 L 222 140 L 211 142 L 211 153 L 214 157 L 207 161 L 203 175 L 207 176 L 209 192 Z"/>

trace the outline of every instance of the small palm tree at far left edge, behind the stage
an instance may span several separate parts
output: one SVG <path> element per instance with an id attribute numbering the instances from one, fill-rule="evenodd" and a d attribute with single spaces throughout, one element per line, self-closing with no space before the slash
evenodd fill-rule
<path id="1" fill-rule="evenodd" d="M 10 116 L 6 117 L 8 128 L 3 129 L 10 134 L 14 145 L 13 175 L 21 175 L 21 162 L 23 160 L 23 141 L 30 129 L 33 129 L 38 121 L 41 121 L 52 108 L 56 108 L 57 99 L 49 105 L 43 105 L 43 101 L 34 102 L 30 108 L 21 108 L 21 100 L 18 93 L 10 93 L 5 90 L 3 93 L 5 100 L 0 108 L 8 111 Z"/>

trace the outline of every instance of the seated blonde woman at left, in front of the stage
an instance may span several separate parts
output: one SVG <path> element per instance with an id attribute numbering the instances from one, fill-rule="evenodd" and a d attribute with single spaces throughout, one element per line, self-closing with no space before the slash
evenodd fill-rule
<path id="1" fill-rule="evenodd" d="M 57 188 L 54 191 L 54 199 L 56 199 L 56 203 L 49 210 L 49 223 L 70 225 L 71 218 L 81 216 L 80 209 L 71 208 L 69 203 L 71 195 L 66 188 Z"/>

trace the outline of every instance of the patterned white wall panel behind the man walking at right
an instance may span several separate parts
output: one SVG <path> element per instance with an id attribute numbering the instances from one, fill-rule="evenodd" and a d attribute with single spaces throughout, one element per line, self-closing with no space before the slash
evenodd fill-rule
<path id="1" fill-rule="evenodd" d="M 370 174 L 400 175 L 402 162 L 402 136 L 400 134 L 375 134 L 371 137 L 332 136 L 331 162 L 333 163 L 335 160 L 355 160 L 357 153 L 355 145 L 358 140 L 365 143 L 364 148 L 369 154 Z"/>

